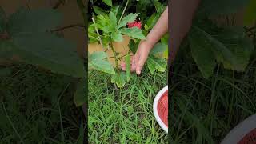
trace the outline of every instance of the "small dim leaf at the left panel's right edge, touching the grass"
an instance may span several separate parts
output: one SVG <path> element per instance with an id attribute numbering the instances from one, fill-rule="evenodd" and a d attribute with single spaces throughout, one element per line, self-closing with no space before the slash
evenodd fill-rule
<path id="1" fill-rule="evenodd" d="M 74 103 L 76 106 L 82 106 L 86 102 L 86 83 L 85 78 L 78 82 L 77 90 L 74 93 Z"/>

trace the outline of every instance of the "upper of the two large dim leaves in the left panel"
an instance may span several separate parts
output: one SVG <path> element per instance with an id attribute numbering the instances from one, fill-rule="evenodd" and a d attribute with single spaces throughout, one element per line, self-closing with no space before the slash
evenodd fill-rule
<path id="1" fill-rule="evenodd" d="M 45 32 L 61 24 L 62 14 L 53 9 L 20 9 L 7 22 L 9 34 Z"/>

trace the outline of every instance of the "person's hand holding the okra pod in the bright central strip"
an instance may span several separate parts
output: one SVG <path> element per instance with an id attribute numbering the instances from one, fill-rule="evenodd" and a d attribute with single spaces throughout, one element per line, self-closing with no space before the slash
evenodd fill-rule
<path id="1" fill-rule="evenodd" d="M 147 41 L 142 41 L 138 45 L 138 50 L 135 55 L 131 56 L 130 58 L 130 71 L 136 71 L 136 74 L 141 74 L 142 68 L 150 54 L 150 50 L 153 46 L 150 45 Z M 121 62 L 121 69 L 126 70 L 126 62 Z"/>

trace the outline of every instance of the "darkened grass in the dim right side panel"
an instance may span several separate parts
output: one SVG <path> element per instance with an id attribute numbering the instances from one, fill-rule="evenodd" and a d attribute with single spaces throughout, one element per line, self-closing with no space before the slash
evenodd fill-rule
<path id="1" fill-rule="evenodd" d="M 219 143 L 234 126 L 256 113 L 256 62 L 243 73 L 218 66 L 202 78 L 189 49 L 179 52 L 171 74 L 170 143 Z"/>

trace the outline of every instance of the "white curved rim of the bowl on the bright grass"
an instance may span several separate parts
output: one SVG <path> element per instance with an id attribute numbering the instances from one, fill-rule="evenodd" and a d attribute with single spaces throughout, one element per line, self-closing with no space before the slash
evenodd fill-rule
<path id="1" fill-rule="evenodd" d="M 162 88 L 162 90 L 160 90 L 157 96 L 154 98 L 153 110 L 154 110 L 154 117 L 157 119 L 158 124 L 162 127 L 162 130 L 165 130 L 166 133 L 168 134 L 168 127 L 162 122 L 162 119 L 159 117 L 159 114 L 158 114 L 158 101 L 161 98 L 162 94 L 166 92 L 166 90 L 168 90 L 168 85 Z"/>

